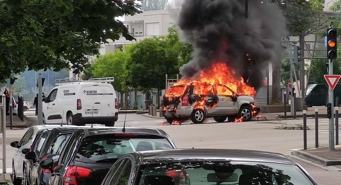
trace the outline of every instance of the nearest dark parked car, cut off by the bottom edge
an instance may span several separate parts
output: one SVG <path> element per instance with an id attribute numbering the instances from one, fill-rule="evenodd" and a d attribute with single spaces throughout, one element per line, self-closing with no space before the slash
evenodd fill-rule
<path id="1" fill-rule="evenodd" d="M 111 167 L 102 185 L 317 184 L 298 163 L 278 153 L 175 149 L 131 152 Z"/>

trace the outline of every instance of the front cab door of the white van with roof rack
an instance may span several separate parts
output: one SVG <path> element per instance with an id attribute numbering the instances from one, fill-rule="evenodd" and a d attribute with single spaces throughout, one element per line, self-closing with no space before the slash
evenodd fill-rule
<path id="1" fill-rule="evenodd" d="M 58 107 L 58 99 L 57 99 L 58 89 L 54 89 L 50 92 L 47 96 L 47 105 L 46 105 L 46 112 L 45 116 L 46 123 L 60 123 L 62 115 L 60 110 L 62 108 Z"/>

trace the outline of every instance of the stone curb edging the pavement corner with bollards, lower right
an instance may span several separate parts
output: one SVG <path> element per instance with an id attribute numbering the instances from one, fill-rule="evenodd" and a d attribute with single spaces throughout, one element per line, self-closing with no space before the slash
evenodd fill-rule
<path id="1" fill-rule="evenodd" d="M 303 159 L 309 160 L 313 163 L 320 164 L 322 166 L 334 166 L 334 165 L 341 165 L 341 161 L 333 161 L 324 159 L 323 157 L 319 157 L 317 155 L 302 151 L 302 150 L 296 150 L 291 152 L 292 155 L 301 157 Z"/>

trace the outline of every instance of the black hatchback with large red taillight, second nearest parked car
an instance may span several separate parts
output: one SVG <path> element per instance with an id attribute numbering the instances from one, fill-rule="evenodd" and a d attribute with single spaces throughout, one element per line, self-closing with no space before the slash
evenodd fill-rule
<path id="1" fill-rule="evenodd" d="M 49 185 L 100 185 L 110 167 L 131 151 L 173 149 L 174 143 L 161 129 L 88 128 L 77 129 L 60 154 L 40 162 L 51 171 Z"/>

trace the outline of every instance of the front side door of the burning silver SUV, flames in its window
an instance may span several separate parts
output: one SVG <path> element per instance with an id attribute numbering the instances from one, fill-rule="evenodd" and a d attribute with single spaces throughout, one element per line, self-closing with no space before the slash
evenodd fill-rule
<path id="1" fill-rule="evenodd" d="M 222 86 L 218 85 L 216 87 L 219 102 L 217 107 L 217 113 L 219 114 L 237 114 L 238 113 L 238 105 L 237 102 L 233 101 L 233 92 Z"/>

